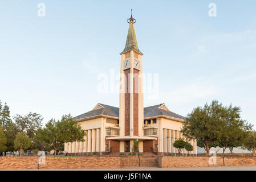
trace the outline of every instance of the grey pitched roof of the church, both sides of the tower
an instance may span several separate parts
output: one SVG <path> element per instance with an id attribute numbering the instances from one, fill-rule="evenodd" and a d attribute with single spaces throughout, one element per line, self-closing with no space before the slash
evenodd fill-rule
<path id="1" fill-rule="evenodd" d="M 97 104 L 91 111 L 78 115 L 74 117 L 74 119 L 84 119 L 94 117 L 96 115 L 108 115 L 111 117 L 119 118 L 119 107 L 109 106 L 105 104 Z M 185 117 L 183 117 L 182 115 L 178 115 L 170 111 L 164 104 L 144 107 L 144 118 L 156 117 L 158 115 L 165 115 L 177 119 L 185 119 Z"/>

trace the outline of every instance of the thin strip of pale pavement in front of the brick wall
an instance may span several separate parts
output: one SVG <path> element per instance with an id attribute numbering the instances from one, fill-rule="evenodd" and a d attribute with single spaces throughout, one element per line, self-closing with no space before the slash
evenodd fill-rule
<path id="1" fill-rule="evenodd" d="M 25 169 L 11 171 L 256 171 L 256 166 L 218 166 L 191 168 L 133 167 L 120 169 Z"/>

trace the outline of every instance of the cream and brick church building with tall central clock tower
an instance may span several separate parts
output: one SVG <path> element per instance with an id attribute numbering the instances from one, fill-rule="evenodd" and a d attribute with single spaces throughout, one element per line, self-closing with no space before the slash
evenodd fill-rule
<path id="1" fill-rule="evenodd" d="M 177 154 L 173 142 L 184 138 L 180 132 L 184 117 L 173 113 L 165 104 L 144 107 L 143 60 L 136 40 L 134 24 L 128 19 L 129 29 L 125 48 L 121 55 L 119 107 L 105 104 L 76 116 L 86 136 L 84 142 L 64 144 L 68 155 L 87 156 L 132 152 L 133 141 L 139 140 L 139 151 L 157 155 Z M 197 154 L 196 140 L 190 155 Z M 183 154 L 189 154 L 184 150 Z"/>

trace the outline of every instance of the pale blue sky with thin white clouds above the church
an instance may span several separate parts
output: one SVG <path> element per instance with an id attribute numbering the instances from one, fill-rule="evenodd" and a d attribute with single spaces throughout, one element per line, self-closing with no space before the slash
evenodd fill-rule
<path id="1" fill-rule="evenodd" d="M 97 76 L 120 72 L 133 9 L 143 71 L 159 74 L 159 96 L 145 94 L 145 106 L 165 103 L 185 116 L 216 99 L 240 106 L 256 125 L 255 7 L 254 0 L 0 1 L 0 100 L 11 115 L 32 111 L 44 123 L 97 102 L 118 107 L 118 93 L 97 91 Z"/>

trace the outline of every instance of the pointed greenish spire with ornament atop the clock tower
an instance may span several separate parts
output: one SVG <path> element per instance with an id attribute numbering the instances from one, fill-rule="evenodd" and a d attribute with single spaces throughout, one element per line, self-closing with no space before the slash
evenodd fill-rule
<path id="1" fill-rule="evenodd" d="M 132 9 L 131 9 L 131 18 L 128 18 L 127 22 L 129 23 L 129 29 L 128 29 L 125 48 L 124 48 L 124 51 L 121 52 L 121 53 L 124 53 L 124 52 L 127 52 L 127 51 L 133 49 L 136 52 L 143 55 L 143 53 L 140 52 L 140 49 L 139 49 L 138 44 L 137 44 L 135 29 L 134 29 L 134 26 L 133 26 L 133 24 L 136 23 L 136 19 L 132 17 Z"/>

